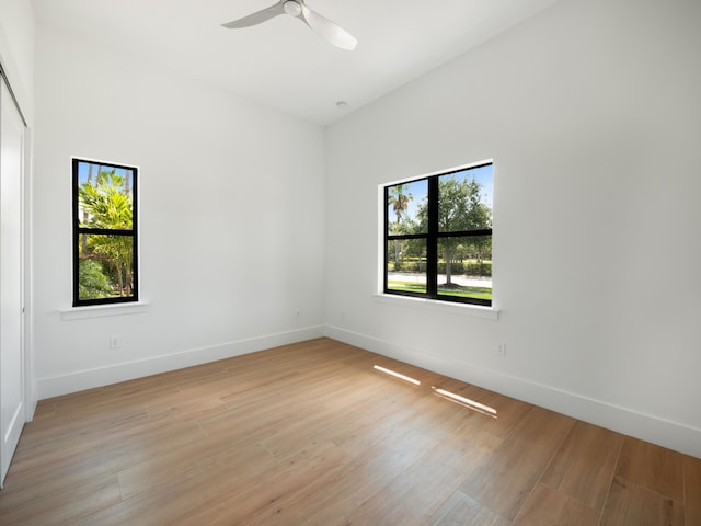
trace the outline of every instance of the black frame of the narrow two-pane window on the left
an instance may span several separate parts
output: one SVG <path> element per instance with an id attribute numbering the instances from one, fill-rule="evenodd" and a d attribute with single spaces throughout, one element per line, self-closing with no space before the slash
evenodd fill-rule
<path id="1" fill-rule="evenodd" d="M 131 228 L 130 229 L 110 229 L 110 228 L 90 228 L 80 225 L 80 199 L 79 199 L 79 167 L 80 163 L 90 163 L 108 169 L 123 169 L 131 171 Z M 139 168 L 131 164 L 120 164 L 108 161 L 99 161 L 94 159 L 71 158 L 71 171 L 72 171 L 72 253 L 73 253 L 73 307 L 88 307 L 95 305 L 114 305 L 114 304 L 130 304 L 139 300 L 139 254 L 138 254 L 138 180 Z M 123 236 L 131 238 L 133 248 L 133 279 L 131 279 L 131 296 L 119 296 L 110 298 L 91 298 L 80 299 L 80 250 L 81 236 L 83 235 L 102 235 L 102 236 Z"/>

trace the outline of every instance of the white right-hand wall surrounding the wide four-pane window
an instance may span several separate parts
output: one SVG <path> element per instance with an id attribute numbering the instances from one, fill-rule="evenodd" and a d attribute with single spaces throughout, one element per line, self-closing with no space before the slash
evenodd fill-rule
<path id="1" fill-rule="evenodd" d="M 332 126 L 327 333 L 701 457 L 700 26 L 565 1 Z M 487 158 L 498 321 L 374 298 L 378 185 Z"/>

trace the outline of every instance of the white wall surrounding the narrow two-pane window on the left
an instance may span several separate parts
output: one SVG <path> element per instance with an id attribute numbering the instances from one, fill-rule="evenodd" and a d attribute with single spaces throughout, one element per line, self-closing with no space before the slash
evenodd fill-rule
<path id="1" fill-rule="evenodd" d="M 36 114 L 39 398 L 322 333 L 321 127 L 42 25 Z M 146 312 L 60 313 L 70 156 L 140 167 Z M 108 348 L 112 334 L 122 348 Z"/>

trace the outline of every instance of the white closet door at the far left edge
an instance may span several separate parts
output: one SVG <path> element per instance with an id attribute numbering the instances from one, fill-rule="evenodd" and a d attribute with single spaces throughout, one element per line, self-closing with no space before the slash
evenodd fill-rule
<path id="1" fill-rule="evenodd" d="M 24 426 L 22 181 L 24 123 L 0 80 L 0 488 Z"/>

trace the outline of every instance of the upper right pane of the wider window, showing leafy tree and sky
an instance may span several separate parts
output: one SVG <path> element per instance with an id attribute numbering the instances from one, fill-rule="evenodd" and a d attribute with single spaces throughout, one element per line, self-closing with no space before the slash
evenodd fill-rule
<path id="1" fill-rule="evenodd" d="M 438 178 L 438 231 L 492 228 L 492 164 Z"/>

